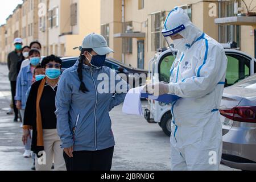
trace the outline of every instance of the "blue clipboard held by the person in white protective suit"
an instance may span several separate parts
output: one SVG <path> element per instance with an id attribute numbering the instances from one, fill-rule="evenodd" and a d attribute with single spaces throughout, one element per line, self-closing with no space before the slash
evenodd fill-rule
<path id="1" fill-rule="evenodd" d="M 150 97 L 150 98 L 148 98 L 148 97 Z M 172 102 L 180 99 L 179 96 L 175 96 L 175 95 L 171 95 L 171 94 L 163 94 L 162 96 L 153 96 L 152 94 L 148 94 L 148 93 L 142 93 L 141 98 L 148 98 L 151 100 L 164 102 L 166 104 L 171 104 Z"/>

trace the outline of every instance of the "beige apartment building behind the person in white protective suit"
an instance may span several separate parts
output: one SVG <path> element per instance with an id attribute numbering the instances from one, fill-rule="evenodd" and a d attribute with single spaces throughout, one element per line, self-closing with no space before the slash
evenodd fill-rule
<path id="1" fill-rule="evenodd" d="M 250 4 L 251 0 L 245 1 Z M 241 7 L 237 14 L 234 3 Z M 167 46 L 161 31 L 168 13 L 176 6 L 183 8 L 192 22 L 212 38 L 221 43 L 237 42 L 238 49 L 254 55 L 254 26 L 216 21 L 243 13 L 245 5 L 240 0 L 101 0 L 101 34 L 115 51 L 110 56 L 147 69 L 155 52 Z"/>

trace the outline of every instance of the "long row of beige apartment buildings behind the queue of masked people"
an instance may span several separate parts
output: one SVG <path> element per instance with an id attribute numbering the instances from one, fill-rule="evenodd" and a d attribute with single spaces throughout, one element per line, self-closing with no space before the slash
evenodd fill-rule
<path id="1" fill-rule="evenodd" d="M 100 0 L 23 0 L 0 27 L 0 61 L 6 62 L 16 37 L 23 39 L 23 46 L 38 40 L 44 56 L 79 55 L 73 47 L 85 35 L 101 32 L 100 7 Z"/>

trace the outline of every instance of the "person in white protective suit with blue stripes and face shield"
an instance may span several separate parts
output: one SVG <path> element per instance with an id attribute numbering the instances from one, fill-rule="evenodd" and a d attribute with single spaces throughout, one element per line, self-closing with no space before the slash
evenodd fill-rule
<path id="1" fill-rule="evenodd" d="M 218 108 L 227 67 L 224 48 L 195 27 L 179 7 L 168 15 L 162 33 L 178 52 L 170 83 L 148 85 L 148 92 L 181 97 L 171 105 L 171 169 L 218 170 L 222 153 Z"/>

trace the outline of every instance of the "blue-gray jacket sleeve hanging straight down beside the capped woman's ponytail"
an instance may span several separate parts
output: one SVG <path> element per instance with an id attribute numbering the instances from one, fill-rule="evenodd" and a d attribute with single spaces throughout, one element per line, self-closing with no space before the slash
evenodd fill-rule
<path id="1" fill-rule="evenodd" d="M 69 148 L 74 144 L 73 134 L 69 125 L 69 107 L 72 101 L 72 85 L 67 82 L 68 72 L 64 72 L 59 80 L 56 93 L 57 132 L 61 139 L 61 148 Z"/>

